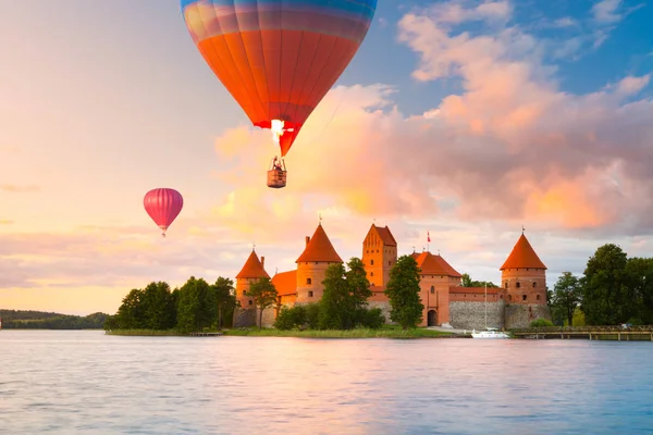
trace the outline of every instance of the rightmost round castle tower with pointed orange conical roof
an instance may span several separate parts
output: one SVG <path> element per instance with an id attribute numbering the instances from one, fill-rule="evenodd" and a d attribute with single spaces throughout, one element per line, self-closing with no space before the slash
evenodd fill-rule
<path id="1" fill-rule="evenodd" d="M 546 266 L 523 232 L 500 270 L 509 311 L 506 327 L 527 327 L 538 318 L 551 320 L 546 306 Z"/>

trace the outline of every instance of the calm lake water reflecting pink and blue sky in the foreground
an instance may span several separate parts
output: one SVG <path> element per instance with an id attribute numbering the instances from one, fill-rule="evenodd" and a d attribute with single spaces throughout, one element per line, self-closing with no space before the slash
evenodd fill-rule
<path id="1" fill-rule="evenodd" d="M 653 433 L 653 343 L 3 330 L 0 433 Z"/>

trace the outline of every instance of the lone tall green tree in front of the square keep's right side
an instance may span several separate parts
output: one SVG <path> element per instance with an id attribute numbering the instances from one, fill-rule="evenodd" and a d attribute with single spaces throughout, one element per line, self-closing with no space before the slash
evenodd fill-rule
<path id="1" fill-rule="evenodd" d="M 404 330 L 416 327 L 423 320 L 424 306 L 419 297 L 420 270 L 411 256 L 402 256 L 390 271 L 385 295 L 392 311 L 390 319 Z"/>

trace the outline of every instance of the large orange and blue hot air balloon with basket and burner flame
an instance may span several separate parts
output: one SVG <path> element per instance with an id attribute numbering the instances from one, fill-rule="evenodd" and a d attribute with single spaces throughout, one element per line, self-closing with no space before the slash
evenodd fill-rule
<path id="1" fill-rule="evenodd" d="M 356 54 L 377 9 L 377 0 L 181 1 L 205 60 L 251 123 L 272 130 L 282 158 Z M 285 185 L 285 166 L 273 170 L 283 171 Z"/>

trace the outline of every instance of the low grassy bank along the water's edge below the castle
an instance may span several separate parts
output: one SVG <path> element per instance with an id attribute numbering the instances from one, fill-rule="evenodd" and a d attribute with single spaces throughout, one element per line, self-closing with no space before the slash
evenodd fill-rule
<path id="1" fill-rule="evenodd" d="M 220 332 L 225 336 L 237 336 L 237 337 L 298 337 L 298 338 L 469 338 L 469 335 L 452 334 L 441 331 L 433 331 L 428 328 L 415 328 L 415 330 L 402 330 L 384 327 L 381 330 L 365 330 L 356 328 L 349 331 L 315 331 L 315 330 L 291 330 L 281 331 L 272 328 L 237 328 L 237 330 L 222 330 L 211 331 Z M 107 335 L 120 335 L 120 336 L 190 336 L 190 334 L 180 333 L 178 331 L 151 331 L 151 330 L 114 330 L 107 331 Z"/>

